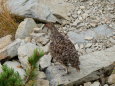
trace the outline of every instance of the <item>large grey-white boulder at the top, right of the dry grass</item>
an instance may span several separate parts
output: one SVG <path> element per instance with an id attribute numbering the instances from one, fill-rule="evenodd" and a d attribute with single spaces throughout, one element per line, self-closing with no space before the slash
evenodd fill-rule
<path id="1" fill-rule="evenodd" d="M 7 4 L 13 14 L 24 17 L 32 17 L 41 21 L 56 22 L 51 10 L 46 4 L 41 4 L 42 0 L 8 0 Z"/>

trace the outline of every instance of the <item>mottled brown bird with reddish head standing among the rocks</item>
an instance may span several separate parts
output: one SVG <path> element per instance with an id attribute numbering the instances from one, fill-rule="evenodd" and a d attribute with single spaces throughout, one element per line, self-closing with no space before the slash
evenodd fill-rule
<path id="1" fill-rule="evenodd" d="M 50 53 L 53 59 L 67 68 L 71 65 L 77 70 L 80 70 L 79 55 L 74 44 L 59 33 L 52 23 L 47 24 L 47 27 L 51 30 Z"/>

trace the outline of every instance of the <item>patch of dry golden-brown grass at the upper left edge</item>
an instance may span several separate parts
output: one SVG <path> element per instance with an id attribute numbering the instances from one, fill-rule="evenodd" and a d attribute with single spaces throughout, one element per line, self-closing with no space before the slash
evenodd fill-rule
<path id="1" fill-rule="evenodd" d="M 14 36 L 18 23 L 16 23 L 15 18 L 11 15 L 4 1 L 5 0 L 1 0 L 0 2 L 0 8 L 2 10 L 2 12 L 0 12 L 0 37 L 7 34 Z"/>

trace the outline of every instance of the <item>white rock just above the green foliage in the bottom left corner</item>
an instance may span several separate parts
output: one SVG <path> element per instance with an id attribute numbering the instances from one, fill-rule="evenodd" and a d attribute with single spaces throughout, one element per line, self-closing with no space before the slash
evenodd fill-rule
<path id="1" fill-rule="evenodd" d="M 9 68 L 13 68 L 15 72 L 18 72 L 22 79 L 25 78 L 26 72 L 21 68 L 21 64 L 17 61 L 6 61 L 4 63 Z"/>

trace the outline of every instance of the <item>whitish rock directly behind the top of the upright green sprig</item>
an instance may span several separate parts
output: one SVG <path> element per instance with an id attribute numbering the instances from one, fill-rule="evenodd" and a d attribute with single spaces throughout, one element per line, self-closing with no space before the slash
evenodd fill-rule
<path id="1" fill-rule="evenodd" d="M 38 49 L 38 46 L 32 43 L 21 45 L 18 48 L 18 58 L 19 61 L 21 62 L 21 65 L 25 69 L 30 67 L 28 64 L 28 58 L 33 55 L 35 49 Z"/>

